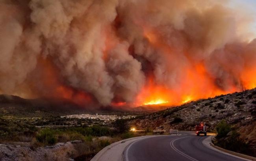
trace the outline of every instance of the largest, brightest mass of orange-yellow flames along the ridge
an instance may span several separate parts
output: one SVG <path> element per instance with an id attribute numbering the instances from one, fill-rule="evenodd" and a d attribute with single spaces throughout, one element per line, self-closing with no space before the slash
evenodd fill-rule
<path id="1" fill-rule="evenodd" d="M 202 63 L 184 69 L 182 82 L 178 89 L 171 89 L 154 82 L 154 77 L 148 77 L 148 83 L 137 95 L 136 105 L 176 106 L 198 99 L 215 97 L 216 95 L 235 92 L 237 89 L 230 84 L 227 90 L 218 88 L 214 79 L 208 75 Z"/>

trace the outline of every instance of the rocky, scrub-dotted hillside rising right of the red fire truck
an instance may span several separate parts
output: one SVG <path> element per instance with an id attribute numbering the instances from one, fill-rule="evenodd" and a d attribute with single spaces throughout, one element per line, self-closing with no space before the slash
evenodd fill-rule
<path id="1" fill-rule="evenodd" d="M 256 149 L 256 88 L 239 93 L 192 101 L 182 106 L 137 117 L 130 124 L 138 129 L 195 130 L 205 122 L 213 131 L 222 119 L 238 129 L 241 137 Z"/>

